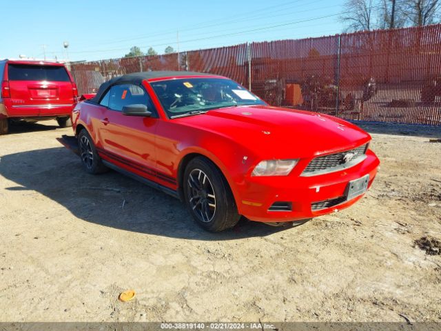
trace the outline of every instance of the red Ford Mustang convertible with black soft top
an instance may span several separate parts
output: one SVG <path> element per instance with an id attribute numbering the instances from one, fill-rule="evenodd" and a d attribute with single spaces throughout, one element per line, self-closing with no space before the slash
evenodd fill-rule
<path id="1" fill-rule="evenodd" d="M 112 168 L 172 194 L 209 231 L 240 215 L 278 224 L 346 208 L 380 163 L 353 124 L 268 106 L 214 74 L 114 78 L 72 123 L 87 172 Z"/>

